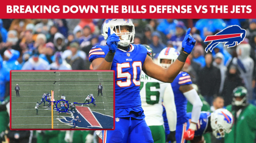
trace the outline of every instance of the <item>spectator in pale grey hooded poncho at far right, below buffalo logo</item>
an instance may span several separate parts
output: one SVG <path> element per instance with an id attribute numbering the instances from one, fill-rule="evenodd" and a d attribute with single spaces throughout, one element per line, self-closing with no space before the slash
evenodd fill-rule
<path id="1" fill-rule="evenodd" d="M 251 46 L 249 44 L 241 43 L 236 47 L 238 58 L 233 58 L 232 64 L 238 67 L 241 73 L 241 78 L 244 81 L 245 87 L 248 91 L 247 99 L 252 100 L 252 75 L 254 70 L 254 61 L 249 56 L 251 53 Z"/>

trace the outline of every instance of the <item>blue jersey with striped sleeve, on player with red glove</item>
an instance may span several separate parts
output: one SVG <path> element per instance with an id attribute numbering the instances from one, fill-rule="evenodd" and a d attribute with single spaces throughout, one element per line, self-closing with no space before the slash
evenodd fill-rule
<path id="1" fill-rule="evenodd" d="M 179 90 L 181 85 L 192 84 L 190 75 L 184 71 L 180 71 L 174 81 L 171 83 L 171 87 L 174 93 L 174 101 L 177 111 L 177 124 L 183 124 L 188 121 L 187 118 L 187 98 Z"/>

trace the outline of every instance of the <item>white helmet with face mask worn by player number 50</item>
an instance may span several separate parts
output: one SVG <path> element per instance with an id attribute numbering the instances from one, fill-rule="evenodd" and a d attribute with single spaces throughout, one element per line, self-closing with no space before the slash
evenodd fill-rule
<path id="1" fill-rule="evenodd" d="M 121 33 L 120 27 L 124 25 L 129 27 L 128 33 Z M 105 19 L 102 24 L 102 36 L 104 36 L 105 39 L 108 37 L 108 27 L 110 27 L 111 34 L 115 33 L 117 36 L 121 36 L 118 42 L 119 45 L 126 47 L 130 43 L 133 43 L 135 28 L 131 19 Z M 116 28 L 119 28 L 119 33 L 116 33 Z"/>

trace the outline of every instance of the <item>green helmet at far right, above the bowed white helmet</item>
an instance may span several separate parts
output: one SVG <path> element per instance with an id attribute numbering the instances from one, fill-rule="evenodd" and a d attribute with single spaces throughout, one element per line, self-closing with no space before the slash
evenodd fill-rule
<path id="1" fill-rule="evenodd" d="M 236 106 L 241 106 L 241 105 L 246 105 L 246 96 L 247 96 L 247 89 L 240 86 L 240 87 L 236 87 L 233 90 L 233 105 Z M 241 101 L 236 101 L 236 97 L 241 97 L 243 98 Z"/>

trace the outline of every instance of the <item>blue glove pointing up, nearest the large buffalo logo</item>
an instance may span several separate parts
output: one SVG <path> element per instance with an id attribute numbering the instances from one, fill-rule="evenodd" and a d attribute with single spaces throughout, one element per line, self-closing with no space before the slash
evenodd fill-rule
<path id="1" fill-rule="evenodd" d="M 182 41 L 182 50 L 190 54 L 196 44 L 196 40 L 190 36 L 191 28 L 188 28 L 185 38 Z"/>

